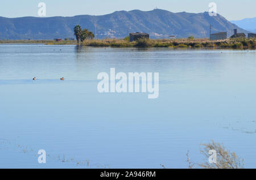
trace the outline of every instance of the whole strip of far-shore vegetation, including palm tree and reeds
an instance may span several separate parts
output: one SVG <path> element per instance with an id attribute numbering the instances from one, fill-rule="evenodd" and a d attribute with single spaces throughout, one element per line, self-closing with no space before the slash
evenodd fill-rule
<path id="1" fill-rule="evenodd" d="M 105 38 L 102 40 L 94 40 L 93 33 L 88 29 L 81 30 L 76 27 L 77 37 L 81 40 L 81 45 L 85 46 L 104 46 L 104 47 L 152 47 L 152 48 L 232 48 L 232 49 L 255 49 L 255 38 L 228 38 L 226 40 L 210 41 L 207 38 L 197 38 L 189 40 L 188 38 L 178 39 L 147 39 L 141 38 L 134 42 L 129 42 L 129 37 L 124 39 Z M 54 41 L 54 40 L 0 40 L 0 43 L 44 43 L 44 44 L 77 44 L 76 41 Z"/>

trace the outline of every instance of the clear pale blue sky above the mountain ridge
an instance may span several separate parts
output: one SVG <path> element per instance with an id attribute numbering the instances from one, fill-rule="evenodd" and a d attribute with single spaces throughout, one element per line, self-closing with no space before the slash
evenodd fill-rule
<path id="1" fill-rule="evenodd" d="M 171 12 L 209 11 L 209 3 L 217 5 L 217 13 L 228 20 L 256 17 L 256 0 L 1 0 L 0 16 L 17 18 L 38 16 L 38 4 L 46 3 L 46 16 L 105 15 L 114 11 L 160 8 Z"/>

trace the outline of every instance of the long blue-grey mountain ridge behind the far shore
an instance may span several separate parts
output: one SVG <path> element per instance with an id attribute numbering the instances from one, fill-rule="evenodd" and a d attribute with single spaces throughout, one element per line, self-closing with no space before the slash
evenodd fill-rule
<path id="1" fill-rule="evenodd" d="M 199 14 L 155 9 L 152 11 L 116 11 L 112 14 L 91 16 L 79 15 L 73 17 L 50 18 L 3 18 L 0 17 L 0 38 L 19 39 L 53 39 L 74 37 L 73 27 L 80 24 L 95 33 L 97 38 L 123 38 L 129 32 L 147 32 L 151 38 L 177 38 L 194 36 L 209 37 L 209 25 L 213 26 L 212 33 L 226 31 L 228 36 L 233 29 L 247 33 L 237 25 L 230 23 L 221 15 L 209 16 L 208 12 Z"/>

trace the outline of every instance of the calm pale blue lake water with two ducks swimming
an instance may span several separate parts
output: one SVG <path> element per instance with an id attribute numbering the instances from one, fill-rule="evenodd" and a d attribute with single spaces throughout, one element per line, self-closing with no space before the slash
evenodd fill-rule
<path id="1" fill-rule="evenodd" d="M 159 72 L 159 97 L 99 93 L 111 67 Z M 210 140 L 256 168 L 255 93 L 255 50 L 1 44 L 0 168 L 188 168 Z"/>

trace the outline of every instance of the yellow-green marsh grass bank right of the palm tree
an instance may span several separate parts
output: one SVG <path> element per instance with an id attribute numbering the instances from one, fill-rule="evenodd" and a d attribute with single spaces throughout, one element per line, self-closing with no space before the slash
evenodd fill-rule
<path id="1" fill-rule="evenodd" d="M 232 48 L 232 49 L 255 49 L 255 38 L 228 38 L 226 40 L 209 41 L 207 38 L 191 39 L 160 39 L 152 40 L 140 38 L 137 41 L 129 42 L 125 40 L 109 39 L 84 41 L 85 46 L 103 47 L 152 47 L 152 48 Z"/>

